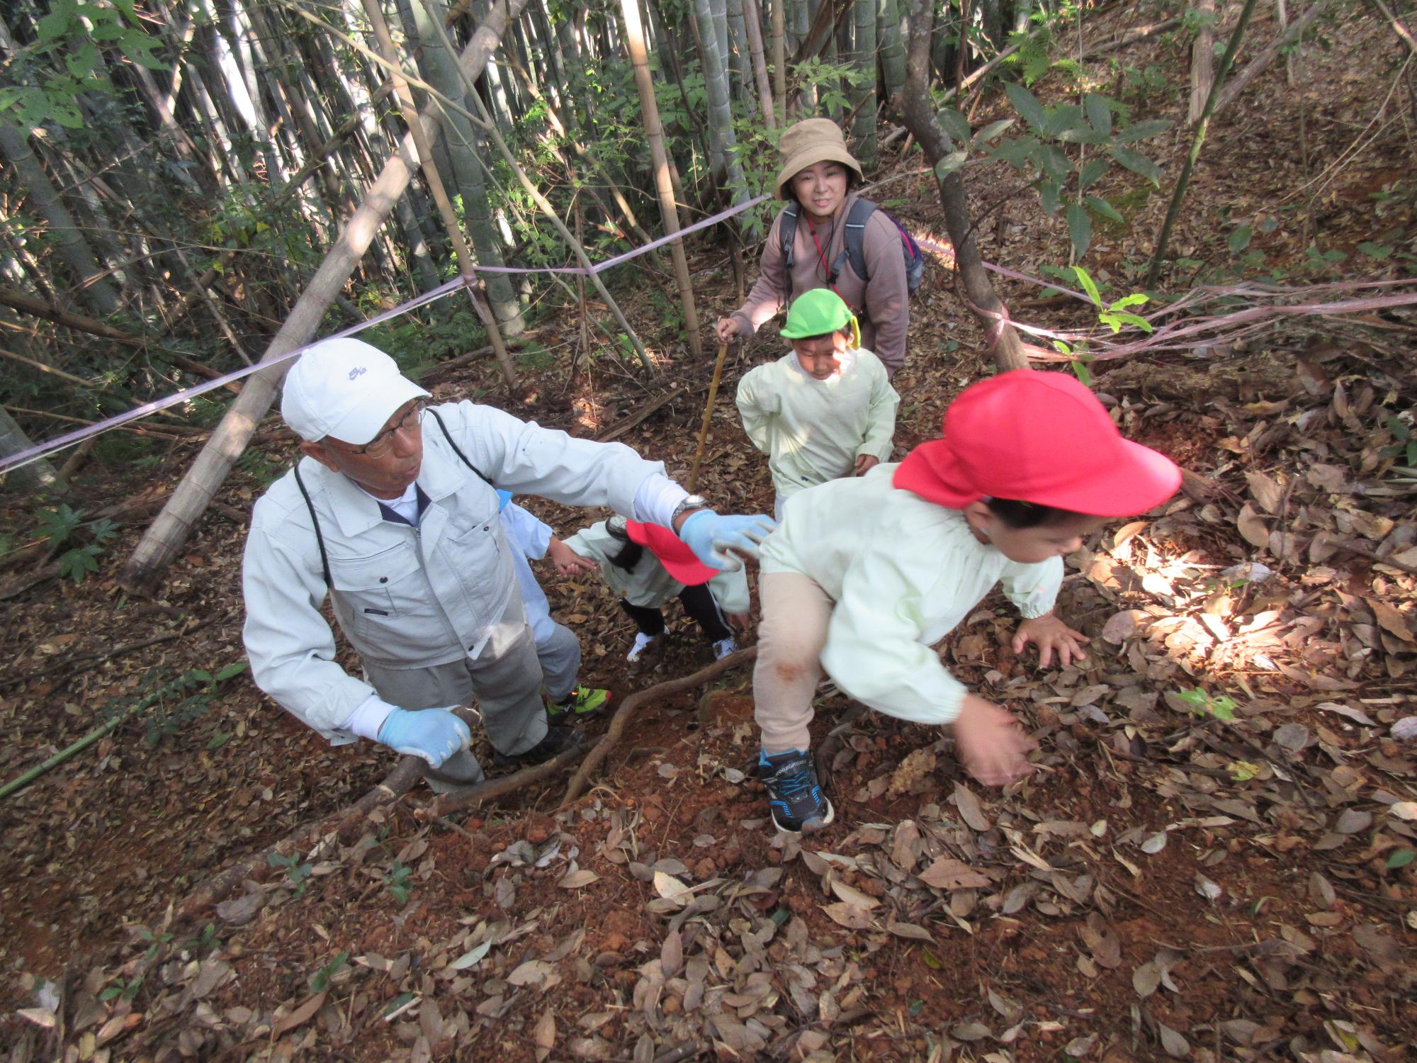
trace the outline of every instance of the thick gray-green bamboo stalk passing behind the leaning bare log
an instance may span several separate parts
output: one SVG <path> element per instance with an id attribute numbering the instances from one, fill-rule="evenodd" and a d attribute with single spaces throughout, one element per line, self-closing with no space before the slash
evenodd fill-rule
<path id="1" fill-rule="evenodd" d="M 435 18 L 446 23 L 448 10 L 442 0 L 412 0 L 414 24 L 410 37 L 415 37 L 419 51 L 419 69 L 428 84 L 436 88 L 449 99 L 470 105 L 466 99 L 466 88 L 458 75 L 458 67 L 452 52 L 444 47 L 442 37 L 434 27 Z M 456 112 L 444 116 L 448 133 L 444 142 L 448 145 L 448 154 L 452 159 L 452 173 L 462 193 L 462 217 L 472 235 L 472 247 L 478 254 L 478 262 L 487 266 L 502 266 L 502 245 L 497 241 L 497 230 L 492 224 L 492 203 L 487 200 L 487 183 L 482 173 L 479 154 L 485 154 L 482 136 L 472 128 L 463 115 Z M 506 274 L 485 274 L 487 286 L 487 302 L 492 305 L 492 316 L 497 327 L 507 336 L 516 336 L 526 329 L 521 317 L 521 303 L 512 281 Z"/>

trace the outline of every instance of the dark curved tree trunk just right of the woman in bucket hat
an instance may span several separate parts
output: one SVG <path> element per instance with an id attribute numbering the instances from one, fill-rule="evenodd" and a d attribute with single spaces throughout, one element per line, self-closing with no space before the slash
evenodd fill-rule
<path id="1" fill-rule="evenodd" d="M 930 99 L 930 41 L 934 23 L 934 0 L 911 0 L 910 10 L 910 51 L 905 58 L 905 91 L 901 94 L 901 116 L 905 128 L 910 129 L 920 143 L 925 159 L 931 166 L 949 154 L 952 145 L 949 137 L 935 120 L 934 105 Z M 959 170 L 954 170 L 938 179 L 939 203 L 945 208 L 945 228 L 949 240 L 955 245 L 955 265 L 965 283 L 969 309 L 979 317 L 985 334 L 989 337 L 989 349 L 993 351 L 993 361 L 999 371 L 1010 369 L 1027 369 L 1029 359 L 1023 350 L 1023 342 L 1012 325 L 1009 315 L 999 296 L 995 295 L 993 285 L 983 271 L 983 261 L 979 258 L 979 248 L 975 247 L 973 232 L 969 224 L 969 204 L 965 198 L 965 186 L 959 179 Z"/>

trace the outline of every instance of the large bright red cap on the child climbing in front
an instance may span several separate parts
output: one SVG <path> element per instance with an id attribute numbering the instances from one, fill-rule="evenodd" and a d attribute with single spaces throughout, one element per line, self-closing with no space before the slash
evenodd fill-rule
<path id="1" fill-rule="evenodd" d="M 1180 486 L 1170 458 L 1124 439 L 1064 373 L 1017 369 L 971 384 L 945 410 L 944 434 L 905 455 L 893 483 L 949 509 L 988 496 L 1127 517 Z"/>

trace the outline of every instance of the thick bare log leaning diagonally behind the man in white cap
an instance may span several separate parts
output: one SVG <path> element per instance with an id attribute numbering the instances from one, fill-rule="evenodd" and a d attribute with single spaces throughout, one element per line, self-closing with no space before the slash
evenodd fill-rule
<path id="1" fill-rule="evenodd" d="M 482 72 L 487 55 L 496 48 L 507 24 L 521 13 L 524 6 L 526 0 L 497 0 L 486 21 L 478 27 L 472 41 L 462 52 L 461 62 L 470 77 L 476 78 Z M 428 108 L 421 120 L 429 136 L 438 135 L 436 108 Z M 411 140 L 408 137 L 410 145 Z M 408 145 L 405 145 L 407 150 Z M 393 210 L 394 201 L 407 187 L 410 176 L 411 171 L 402 153 L 393 156 L 384 164 L 378 180 L 370 186 L 364 201 L 340 232 L 339 241 L 320 264 L 309 288 L 290 310 L 290 316 L 286 317 L 271 346 L 266 347 L 264 361 L 278 360 L 315 334 L 324 312 L 340 293 L 378 227 Z M 193 468 L 123 566 L 120 583 L 129 591 L 150 592 L 157 585 L 163 570 L 187 541 L 207 505 L 225 480 L 231 465 L 245 449 L 256 424 L 271 408 L 276 386 L 288 369 L 285 361 L 279 361 L 247 378 L 241 395 L 232 403 L 231 410 L 217 425 L 217 431 L 207 441 Z"/>

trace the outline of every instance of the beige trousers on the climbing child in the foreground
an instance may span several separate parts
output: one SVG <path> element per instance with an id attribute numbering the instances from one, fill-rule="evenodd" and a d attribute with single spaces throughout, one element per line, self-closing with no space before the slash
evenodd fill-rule
<path id="1" fill-rule="evenodd" d="M 769 757 L 812 744 L 812 697 L 822 679 L 822 648 L 836 602 L 816 580 L 801 573 L 762 573 L 758 578 L 762 621 L 752 700 L 762 750 Z"/>

